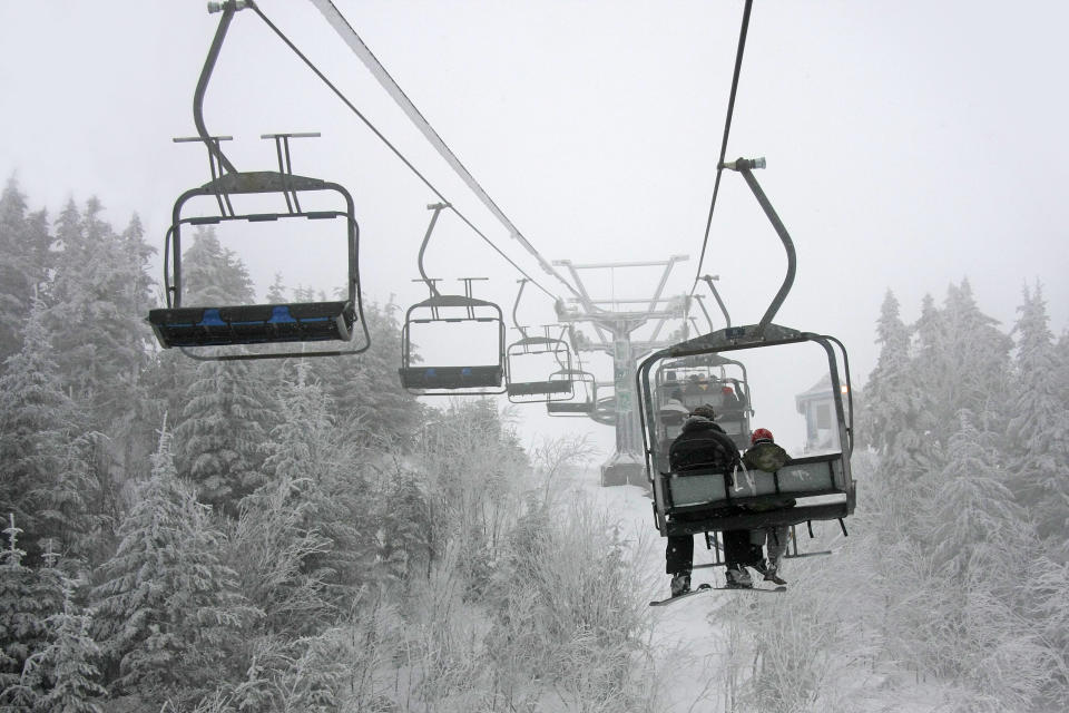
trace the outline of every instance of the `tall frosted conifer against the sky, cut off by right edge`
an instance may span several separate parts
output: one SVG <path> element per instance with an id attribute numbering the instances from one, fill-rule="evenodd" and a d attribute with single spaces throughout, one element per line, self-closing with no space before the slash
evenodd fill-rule
<path id="1" fill-rule="evenodd" d="M 1069 410 L 1040 285 L 1018 307 L 1016 379 L 1008 436 L 1011 487 L 1041 537 L 1069 559 Z"/>

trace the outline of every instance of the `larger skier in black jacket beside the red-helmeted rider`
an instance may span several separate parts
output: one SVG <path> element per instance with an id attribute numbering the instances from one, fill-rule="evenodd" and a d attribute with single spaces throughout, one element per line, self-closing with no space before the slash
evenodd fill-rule
<path id="1" fill-rule="evenodd" d="M 716 412 L 709 404 L 690 411 L 679 438 L 668 449 L 668 462 L 674 472 L 695 469 L 719 469 L 732 472 L 739 463 L 735 443 L 715 423 Z M 677 516 L 680 519 L 685 516 Z M 753 586 L 742 563 L 759 561 L 761 550 L 754 557 L 747 530 L 724 533 L 724 558 L 728 565 L 728 586 Z M 694 564 L 694 536 L 669 535 L 665 548 L 665 572 L 671 575 L 671 596 L 690 590 L 690 569 Z"/>

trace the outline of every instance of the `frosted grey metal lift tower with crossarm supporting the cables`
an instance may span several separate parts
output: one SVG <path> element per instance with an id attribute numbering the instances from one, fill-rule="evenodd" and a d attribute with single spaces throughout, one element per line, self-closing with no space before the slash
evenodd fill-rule
<path id="1" fill-rule="evenodd" d="M 673 255 L 667 261 L 595 263 L 577 265 L 569 260 L 553 261 L 553 265 L 566 267 L 571 273 L 578 296 L 568 303 L 558 302 L 557 318 L 568 324 L 572 334 L 572 348 L 577 351 L 604 352 L 612 358 L 612 382 L 615 387 L 616 412 L 616 452 L 601 466 L 601 485 L 636 485 L 648 487 L 646 465 L 643 458 L 643 432 L 637 412 L 635 394 L 635 370 L 643 356 L 657 349 L 664 349 L 686 339 L 687 309 L 686 295 L 665 297 L 665 285 L 676 263 L 688 260 L 686 255 Z M 616 284 L 616 271 L 632 267 L 661 267 L 660 281 L 649 297 L 592 299 L 583 284 L 580 271 L 609 271 L 611 284 Z M 665 323 L 669 320 L 681 322 L 683 333 L 676 332 L 660 336 Z M 589 322 L 594 325 L 597 340 L 588 339 L 573 328 Z M 643 339 L 635 332 L 653 322 L 651 332 Z"/>

